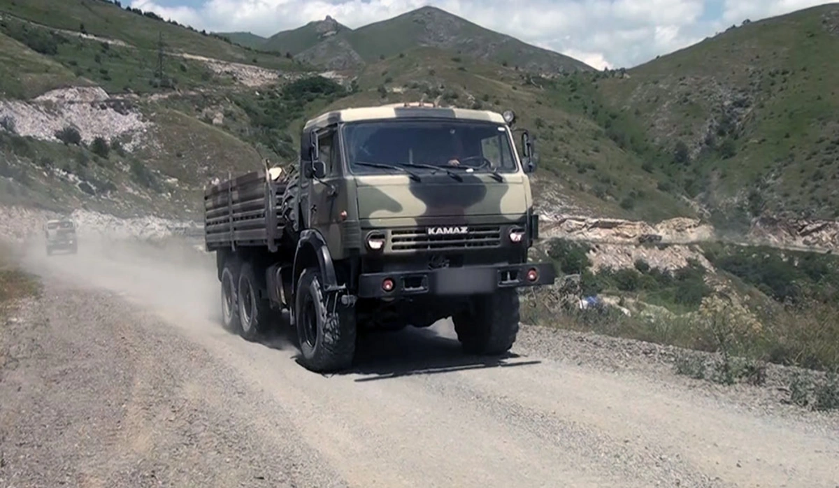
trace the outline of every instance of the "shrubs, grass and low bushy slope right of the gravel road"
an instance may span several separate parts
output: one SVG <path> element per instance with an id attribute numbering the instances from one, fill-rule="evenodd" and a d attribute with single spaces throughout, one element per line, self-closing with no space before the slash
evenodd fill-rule
<path id="1" fill-rule="evenodd" d="M 817 371 L 796 376 L 789 401 L 839 408 L 839 257 L 709 243 L 700 252 L 711 270 L 638 261 L 594 273 L 590 250 L 551 241 L 560 277 L 578 275 L 579 285 L 546 290 L 523 308 L 526 319 L 711 353 L 685 353 L 675 371 L 722 384 L 762 384 L 767 364 Z M 595 296 L 586 308 L 576 299 Z"/>

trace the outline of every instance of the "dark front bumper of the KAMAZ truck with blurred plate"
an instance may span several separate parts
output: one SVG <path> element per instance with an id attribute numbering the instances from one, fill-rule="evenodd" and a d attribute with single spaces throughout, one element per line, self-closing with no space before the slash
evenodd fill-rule
<path id="1" fill-rule="evenodd" d="M 537 278 L 527 278 L 535 269 Z M 393 282 L 393 289 L 386 291 L 386 279 Z M 442 267 L 420 272 L 362 274 L 358 278 L 358 297 L 384 299 L 407 295 L 472 295 L 493 293 L 499 288 L 532 287 L 553 284 L 556 272 L 550 262 L 526 262 L 493 266 Z"/>

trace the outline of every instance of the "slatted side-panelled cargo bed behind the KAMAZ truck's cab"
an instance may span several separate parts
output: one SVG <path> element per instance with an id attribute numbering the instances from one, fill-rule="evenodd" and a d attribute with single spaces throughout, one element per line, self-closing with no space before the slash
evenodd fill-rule
<path id="1" fill-rule="evenodd" d="M 270 181 L 266 172 L 260 170 L 207 187 L 204 191 L 206 250 L 267 246 L 276 251 L 285 222 L 279 214 L 285 185 L 285 180 Z"/>

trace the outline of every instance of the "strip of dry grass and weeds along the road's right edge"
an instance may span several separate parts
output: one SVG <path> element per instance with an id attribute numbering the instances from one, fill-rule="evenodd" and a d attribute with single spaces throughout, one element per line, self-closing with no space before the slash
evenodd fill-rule
<path id="1" fill-rule="evenodd" d="M 789 402 L 813 410 L 839 408 L 835 304 L 808 301 L 795 307 L 751 310 L 715 293 L 694 312 L 668 314 L 657 308 L 628 316 L 617 309 L 560 309 L 545 297 L 525 294 L 523 298 L 522 319 L 530 324 L 683 348 L 675 372 L 696 379 L 762 385 L 769 364 L 804 368 L 789 382 Z"/>

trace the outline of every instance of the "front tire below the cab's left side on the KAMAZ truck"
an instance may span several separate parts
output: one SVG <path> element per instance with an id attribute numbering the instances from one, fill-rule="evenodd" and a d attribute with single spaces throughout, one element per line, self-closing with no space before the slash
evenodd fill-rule
<path id="1" fill-rule="evenodd" d="M 315 267 L 305 269 L 297 281 L 294 323 L 300 363 L 315 372 L 341 371 L 352 366 L 356 353 L 356 313 L 353 308 L 327 301 L 321 283 Z"/>

